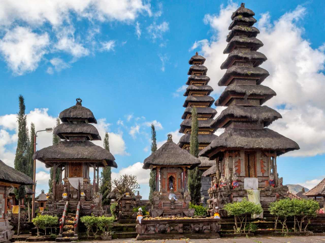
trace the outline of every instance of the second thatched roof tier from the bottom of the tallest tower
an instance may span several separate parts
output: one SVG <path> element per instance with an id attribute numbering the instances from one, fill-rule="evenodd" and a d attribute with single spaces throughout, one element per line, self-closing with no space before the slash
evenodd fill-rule
<path id="1" fill-rule="evenodd" d="M 264 122 L 264 126 L 268 126 L 282 116 L 268 106 L 231 105 L 221 111 L 220 115 L 212 122 L 211 127 L 219 126 L 226 118 L 247 118 L 248 121 L 260 121 Z"/>

